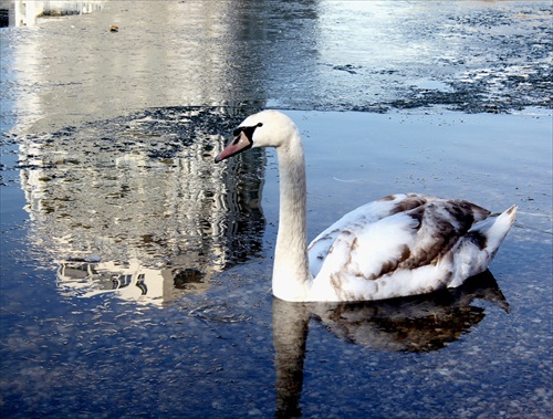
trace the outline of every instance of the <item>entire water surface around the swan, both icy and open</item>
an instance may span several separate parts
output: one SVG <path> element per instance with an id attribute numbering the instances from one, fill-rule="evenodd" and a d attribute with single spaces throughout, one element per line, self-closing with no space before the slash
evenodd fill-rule
<path id="1" fill-rule="evenodd" d="M 2 30 L 2 417 L 551 416 L 547 2 L 363 4 L 113 2 Z M 417 13 L 460 52 L 390 22 Z M 394 53 L 347 48 L 363 17 Z M 274 301 L 275 155 L 212 163 L 268 106 L 304 138 L 310 239 L 393 192 L 515 203 L 490 272 L 377 304 Z"/>

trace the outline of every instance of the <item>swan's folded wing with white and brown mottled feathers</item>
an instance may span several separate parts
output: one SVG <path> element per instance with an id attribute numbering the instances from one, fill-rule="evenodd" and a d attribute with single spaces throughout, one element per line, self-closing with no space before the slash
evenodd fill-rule
<path id="1" fill-rule="evenodd" d="M 328 283 L 341 300 L 411 295 L 444 285 L 451 276 L 455 247 L 489 211 L 467 201 L 413 198 L 422 202 L 333 232 L 315 283 Z"/>

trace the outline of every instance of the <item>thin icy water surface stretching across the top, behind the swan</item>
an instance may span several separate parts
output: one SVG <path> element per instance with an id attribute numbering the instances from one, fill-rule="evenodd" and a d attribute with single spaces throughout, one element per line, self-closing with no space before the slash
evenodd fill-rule
<path id="1" fill-rule="evenodd" d="M 551 19 L 547 0 L 106 1 L 2 30 L 3 114 L 36 132 L 182 105 L 551 108 Z"/>

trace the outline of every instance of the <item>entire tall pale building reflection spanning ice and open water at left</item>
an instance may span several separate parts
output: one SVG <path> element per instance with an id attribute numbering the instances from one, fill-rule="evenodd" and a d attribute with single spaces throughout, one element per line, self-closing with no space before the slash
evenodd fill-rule
<path id="1" fill-rule="evenodd" d="M 199 29 L 207 32 L 200 38 L 240 36 L 231 33 L 230 23 L 236 20 L 221 27 L 225 13 L 237 11 L 227 10 L 228 4 L 201 4 L 147 2 L 145 8 L 153 22 L 154 13 L 177 19 L 170 8 L 195 9 L 189 10 L 190 22 L 186 10 L 180 10 L 182 27 L 196 25 L 209 8 L 211 23 Z M 112 2 L 112 7 L 121 4 Z M 264 155 L 251 153 L 222 165 L 215 165 L 213 158 L 228 140 L 225 135 L 246 115 L 231 106 L 234 92 L 255 97 L 248 106 L 259 108 L 264 105 L 259 93 L 263 86 L 249 86 L 255 69 L 222 65 L 240 62 L 237 51 L 226 51 L 225 44 L 206 51 L 197 40 L 175 43 L 156 38 L 160 45 L 154 55 L 113 56 L 106 43 L 113 38 L 104 38 L 112 34 L 102 28 L 102 35 L 92 36 L 86 51 L 60 44 L 60 61 L 45 66 L 42 51 L 52 40 L 40 33 L 29 36 L 13 54 L 19 83 L 44 86 L 23 88 L 14 104 L 14 130 L 25 133 L 20 136 L 20 161 L 30 239 L 46 261 L 56 261 L 64 295 L 90 297 L 108 292 L 161 304 L 182 292 L 204 292 L 215 274 L 261 252 Z M 148 44 L 147 36 L 143 41 Z M 125 49 L 129 42 L 135 42 L 132 36 L 118 46 Z M 67 60 L 75 65 L 67 67 Z M 82 65 L 86 71 L 80 72 Z M 179 66 L 176 74 L 186 81 L 179 87 L 186 99 L 175 101 L 173 82 L 158 77 L 149 83 L 135 73 L 152 74 L 164 65 Z M 202 76 L 199 67 L 205 70 Z M 194 76 L 186 77 L 189 73 Z M 121 82 L 137 86 L 121 86 Z M 64 87 L 54 95 L 58 84 Z M 145 109 L 159 103 L 188 104 L 189 98 L 229 106 L 160 106 L 136 112 L 136 104 L 148 104 Z M 121 116 L 129 113 L 124 103 L 134 105 L 128 117 Z"/>

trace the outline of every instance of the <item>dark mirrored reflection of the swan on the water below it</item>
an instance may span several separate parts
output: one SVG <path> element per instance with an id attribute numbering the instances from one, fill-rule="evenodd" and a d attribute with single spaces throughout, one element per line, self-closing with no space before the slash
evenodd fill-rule
<path id="1" fill-rule="evenodd" d="M 309 322 L 368 349 L 430 352 L 457 341 L 486 316 L 472 305 L 484 300 L 509 312 L 493 275 L 486 271 L 451 290 L 366 303 L 288 303 L 273 298 L 276 417 L 301 416 L 303 362 Z"/>

